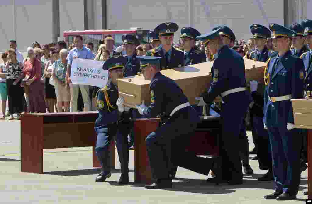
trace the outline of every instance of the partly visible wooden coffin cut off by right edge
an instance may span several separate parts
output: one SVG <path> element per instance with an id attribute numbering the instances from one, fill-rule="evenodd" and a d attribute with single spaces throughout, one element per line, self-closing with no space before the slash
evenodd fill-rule
<path id="1" fill-rule="evenodd" d="M 312 99 L 291 99 L 295 128 L 312 129 Z"/>

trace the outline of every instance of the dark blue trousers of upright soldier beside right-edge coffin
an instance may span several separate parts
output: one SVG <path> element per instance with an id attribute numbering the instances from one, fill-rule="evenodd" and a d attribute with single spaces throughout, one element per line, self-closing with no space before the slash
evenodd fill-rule
<path id="1" fill-rule="evenodd" d="M 276 190 L 297 194 L 300 184 L 300 147 L 302 139 L 298 130 L 283 127 L 269 127 L 273 176 Z"/>

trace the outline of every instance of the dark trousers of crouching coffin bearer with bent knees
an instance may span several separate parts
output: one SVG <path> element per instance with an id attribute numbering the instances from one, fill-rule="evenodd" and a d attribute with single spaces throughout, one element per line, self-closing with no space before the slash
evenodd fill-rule
<path id="1" fill-rule="evenodd" d="M 185 152 L 185 144 L 192 138 L 199 117 L 193 107 L 178 110 L 167 122 L 150 133 L 145 141 L 152 176 L 168 178 L 173 165 L 208 175 L 211 163 L 206 158 Z"/>

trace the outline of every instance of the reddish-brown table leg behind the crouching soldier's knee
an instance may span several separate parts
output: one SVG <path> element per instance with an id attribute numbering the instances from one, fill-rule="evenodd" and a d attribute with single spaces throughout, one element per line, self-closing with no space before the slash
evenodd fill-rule
<path id="1" fill-rule="evenodd" d="M 133 119 L 135 132 L 134 182 L 152 183 L 151 167 L 146 151 L 145 138 L 159 126 L 160 119 Z"/>

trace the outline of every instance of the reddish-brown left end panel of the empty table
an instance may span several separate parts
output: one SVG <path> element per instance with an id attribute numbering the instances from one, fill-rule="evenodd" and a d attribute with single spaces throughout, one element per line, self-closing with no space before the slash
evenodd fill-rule
<path id="1" fill-rule="evenodd" d="M 21 116 L 21 172 L 43 173 L 43 117 Z"/>

